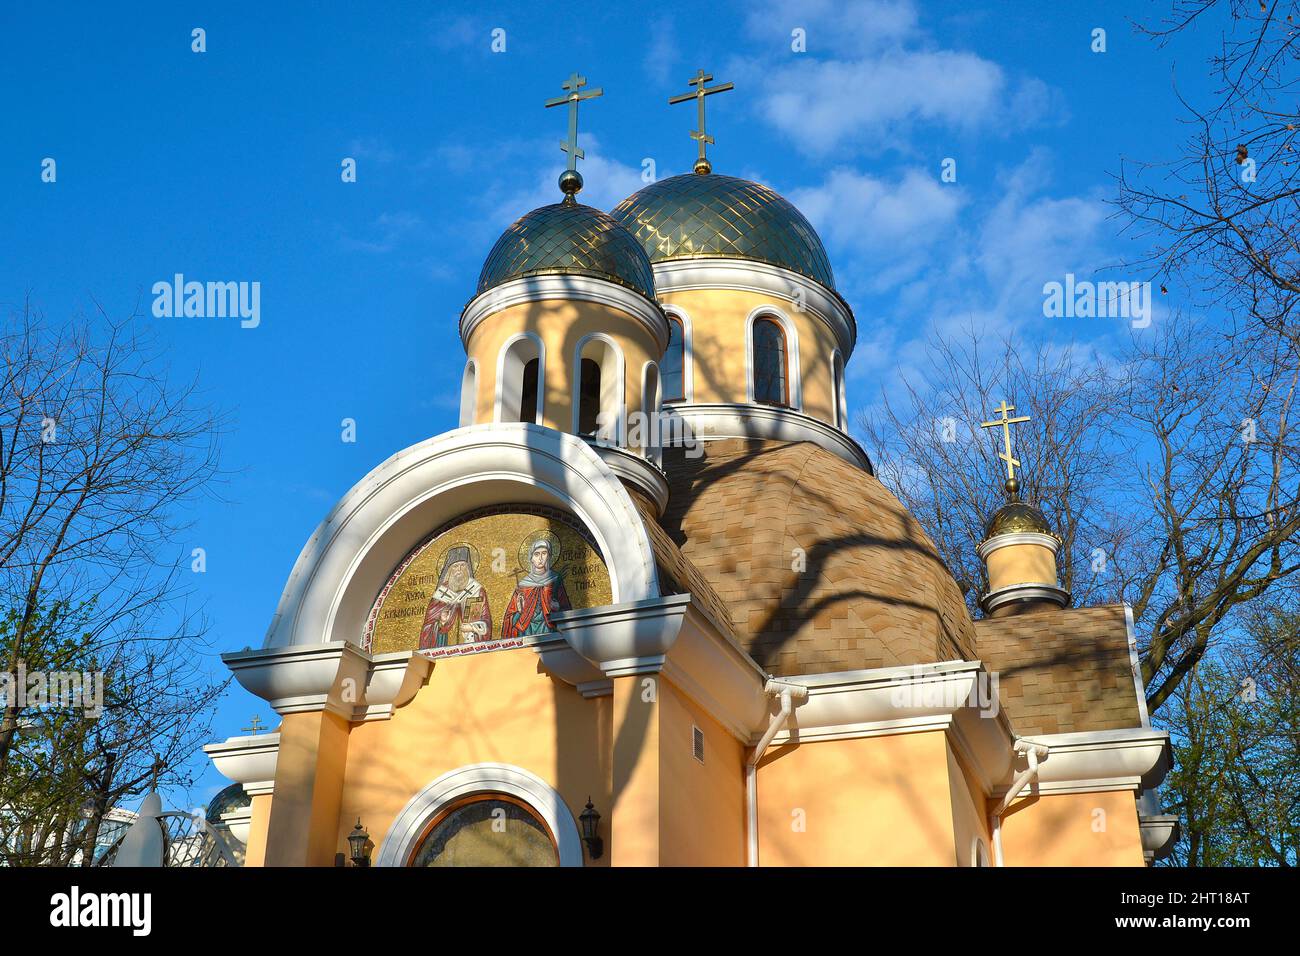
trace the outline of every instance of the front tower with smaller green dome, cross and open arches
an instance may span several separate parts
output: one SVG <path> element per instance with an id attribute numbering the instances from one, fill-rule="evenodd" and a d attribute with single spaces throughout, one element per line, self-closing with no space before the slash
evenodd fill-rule
<path id="1" fill-rule="evenodd" d="M 460 316 L 468 362 L 462 425 L 524 421 L 654 459 L 668 323 L 641 243 L 577 202 L 578 104 L 601 95 L 575 73 L 547 107 L 568 108 L 563 200 L 514 222 L 493 246 Z M 662 484 L 662 479 L 660 479 Z"/>

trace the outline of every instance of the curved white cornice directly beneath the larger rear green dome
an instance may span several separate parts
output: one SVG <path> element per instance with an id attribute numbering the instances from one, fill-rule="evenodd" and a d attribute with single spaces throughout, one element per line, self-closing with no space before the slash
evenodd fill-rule
<path id="1" fill-rule="evenodd" d="M 848 362 L 858 338 L 853 310 L 816 280 L 754 259 L 667 259 L 654 264 L 655 295 L 666 304 L 673 293 L 693 289 L 738 289 L 789 302 L 816 316 L 835 336 Z"/>

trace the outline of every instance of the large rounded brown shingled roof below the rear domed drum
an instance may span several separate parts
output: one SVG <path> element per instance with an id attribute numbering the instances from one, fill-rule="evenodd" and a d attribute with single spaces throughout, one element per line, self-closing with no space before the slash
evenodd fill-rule
<path id="1" fill-rule="evenodd" d="M 660 524 L 774 675 L 976 659 L 937 550 L 866 471 L 811 442 L 744 438 L 671 449 L 664 470 Z"/>

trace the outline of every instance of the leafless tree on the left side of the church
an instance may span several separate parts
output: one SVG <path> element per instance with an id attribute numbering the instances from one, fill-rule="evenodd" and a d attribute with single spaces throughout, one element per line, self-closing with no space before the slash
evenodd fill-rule
<path id="1" fill-rule="evenodd" d="M 220 692 L 188 607 L 186 507 L 212 488 L 222 420 L 140 329 L 30 306 L 0 329 L 0 670 L 105 674 L 98 717 L 5 697 L 0 804 L 86 847 L 114 801 L 178 773 Z"/>

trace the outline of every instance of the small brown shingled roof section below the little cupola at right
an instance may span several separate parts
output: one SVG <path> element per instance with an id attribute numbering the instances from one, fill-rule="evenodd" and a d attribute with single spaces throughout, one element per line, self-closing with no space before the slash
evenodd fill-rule
<path id="1" fill-rule="evenodd" d="M 975 637 L 1015 732 L 1141 726 L 1123 605 L 988 618 Z"/>

